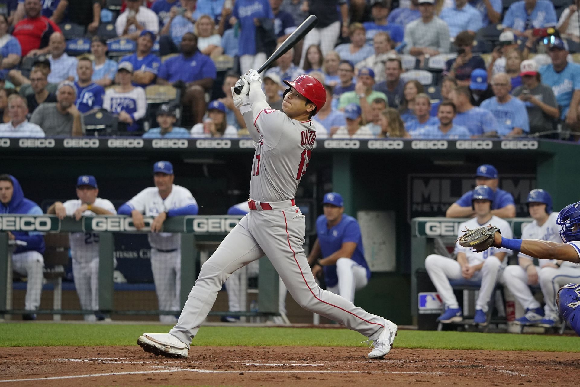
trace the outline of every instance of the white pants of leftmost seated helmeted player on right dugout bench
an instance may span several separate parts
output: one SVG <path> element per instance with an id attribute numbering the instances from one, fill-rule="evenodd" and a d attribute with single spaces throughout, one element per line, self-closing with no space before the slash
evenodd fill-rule
<path id="1" fill-rule="evenodd" d="M 437 288 L 437 292 L 441 296 L 445 308 L 459 308 L 459 303 L 453 293 L 453 288 L 449 284 L 450 279 L 463 279 L 459 262 L 443 255 L 431 254 L 425 259 L 425 269 L 427 269 L 433 285 Z M 502 270 L 502 263 L 499 262 L 499 259 L 495 258 L 495 256 L 490 256 L 485 259 L 481 270 L 473 274 L 472 281 L 481 281 L 479 295 L 475 304 L 476 309 L 487 312 L 489 309 L 488 303 L 490 302 L 495 284 L 498 280 L 502 280 Z"/>

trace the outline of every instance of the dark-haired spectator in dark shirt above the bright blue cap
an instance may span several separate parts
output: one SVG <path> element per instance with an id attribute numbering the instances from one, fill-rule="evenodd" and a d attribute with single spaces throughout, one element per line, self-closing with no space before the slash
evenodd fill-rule
<path id="1" fill-rule="evenodd" d="M 445 62 L 444 74 L 457 79 L 460 86 L 469 86 L 471 73 L 476 68 L 485 69 L 481 56 L 473 55 L 473 35 L 470 31 L 461 31 L 454 41 L 457 57 Z"/>

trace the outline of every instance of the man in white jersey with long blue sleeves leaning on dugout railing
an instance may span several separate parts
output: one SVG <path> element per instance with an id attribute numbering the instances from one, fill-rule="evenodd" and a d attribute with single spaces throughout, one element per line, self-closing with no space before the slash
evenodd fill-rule
<path id="1" fill-rule="evenodd" d="M 151 271 L 160 310 L 171 310 L 173 314 L 162 314 L 160 321 L 175 324 L 174 314 L 180 309 L 181 290 L 181 235 L 162 232 L 163 222 L 172 216 L 197 215 L 197 201 L 191 192 L 173 184 L 173 165 L 169 161 L 158 161 L 153 165 L 155 187 L 148 187 L 119 207 L 119 215 L 131 215 L 137 230 L 145 227 L 143 215 L 153 217 L 151 233 Z"/>

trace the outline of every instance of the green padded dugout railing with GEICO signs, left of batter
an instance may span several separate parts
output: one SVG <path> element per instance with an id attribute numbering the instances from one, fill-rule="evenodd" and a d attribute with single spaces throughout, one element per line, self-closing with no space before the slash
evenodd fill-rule
<path id="1" fill-rule="evenodd" d="M 181 239 L 181 291 L 180 307 L 183 308 L 187 296 L 197 279 L 200 257 L 208 258 L 209 253 L 219 245 L 220 241 L 240 221 L 237 215 L 194 215 L 176 216 L 164 222 L 162 232 L 180 233 Z M 63 220 L 54 215 L 0 215 L 0 314 L 11 315 L 30 313 L 30 311 L 12 308 L 12 245 L 9 243 L 8 232 L 28 231 L 43 233 L 85 232 L 99 233 L 99 313 L 159 315 L 175 314 L 175 311 L 144 310 L 135 305 L 134 309 L 115 309 L 114 307 L 114 234 L 115 233 L 147 233 L 153 218 L 144 218 L 146 227 L 137 231 L 129 216 L 84 216 L 80 220 L 67 217 Z M 270 261 L 263 257 L 259 263 L 258 312 L 216 312 L 214 316 L 279 316 L 278 313 L 278 274 Z M 56 288 L 55 288 L 56 290 Z M 92 314 L 94 310 L 63 310 L 40 309 L 37 314 Z"/>

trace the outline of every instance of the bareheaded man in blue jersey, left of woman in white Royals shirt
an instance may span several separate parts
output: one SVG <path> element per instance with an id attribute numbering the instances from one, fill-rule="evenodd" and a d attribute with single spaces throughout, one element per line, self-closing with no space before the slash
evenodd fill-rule
<path id="1" fill-rule="evenodd" d="M 77 100 L 75 106 L 81 113 L 100 109 L 103 107 L 105 89 L 92 81 L 93 62 L 87 56 L 82 56 L 77 65 L 78 81 L 74 82 L 77 88 Z"/>

